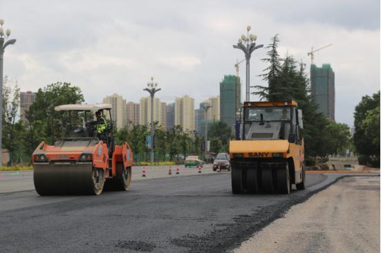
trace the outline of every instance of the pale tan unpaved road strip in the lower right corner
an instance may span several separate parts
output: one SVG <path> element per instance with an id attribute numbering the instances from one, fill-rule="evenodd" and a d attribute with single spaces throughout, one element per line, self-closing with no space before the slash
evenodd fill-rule
<path id="1" fill-rule="evenodd" d="M 234 252 L 380 252 L 380 178 L 343 178 Z"/>

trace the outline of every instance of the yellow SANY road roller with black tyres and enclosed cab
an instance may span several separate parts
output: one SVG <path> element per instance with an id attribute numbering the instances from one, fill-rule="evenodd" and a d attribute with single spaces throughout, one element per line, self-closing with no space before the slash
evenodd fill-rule
<path id="1" fill-rule="evenodd" d="M 305 189 L 301 110 L 287 102 L 245 102 L 241 134 L 230 141 L 233 194 L 290 194 Z"/>

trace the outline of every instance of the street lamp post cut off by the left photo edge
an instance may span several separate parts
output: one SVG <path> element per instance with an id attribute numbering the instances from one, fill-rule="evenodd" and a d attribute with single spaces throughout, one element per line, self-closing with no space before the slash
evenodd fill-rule
<path id="1" fill-rule="evenodd" d="M 0 19 L 0 165 L 3 165 L 3 149 L 2 149 L 2 129 L 3 129 L 3 56 L 6 47 L 10 44 L 15 44 L 16 39 L 8 39 L 10 36 L 10 29 L 3 30 L 4 20 Z"/>

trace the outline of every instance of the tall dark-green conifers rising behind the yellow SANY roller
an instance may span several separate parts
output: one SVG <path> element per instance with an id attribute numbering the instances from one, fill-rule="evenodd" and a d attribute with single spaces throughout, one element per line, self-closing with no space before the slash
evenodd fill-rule
<path id="1" fill-rule="evenodd" d="M 268 86 L 255 86 L 259 91 L 261 100 L 287 101 L 296 100 L 299 109 L 303 111 L 304 118 L 304 143 L 306 156 L 326 156 L 326 140 L 324 140 L 324 129 L 328 120 L 322 113 L 317 112 L 317 105 L 310 95 L 308 78 L 304 73 L 304 64 L 297 62 L 291 55 L 284 59 L 279 57 L 277 47 L 279 37 L 275 35 L 271 44 L 267 47 L 268 58 L 262 59 L 269 64 L 261 76 L 268 82 Z"/>

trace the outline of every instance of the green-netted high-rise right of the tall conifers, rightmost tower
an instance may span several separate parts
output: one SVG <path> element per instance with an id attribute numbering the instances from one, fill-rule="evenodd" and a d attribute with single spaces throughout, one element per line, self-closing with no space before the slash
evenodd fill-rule
<path id="1" fill-rule="evenodd" d="M 311 95 L 315 100 L 318 111 L 330 121 L 335 121 L 335 72 L 330 64 L 322 68 L 315 64 L 310 66 Z"/>

